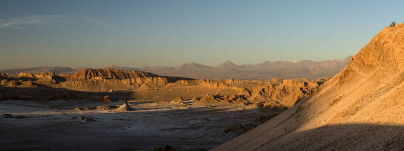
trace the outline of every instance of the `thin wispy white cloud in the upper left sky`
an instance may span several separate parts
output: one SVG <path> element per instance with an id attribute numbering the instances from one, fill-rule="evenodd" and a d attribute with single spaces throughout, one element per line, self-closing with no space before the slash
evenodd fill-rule
<path id="1" fill-rule="evenodd" d="M 36 24 L 51 24 L 60 17 L 57 15 L 36 15 L 36 16 L 25 16 L 17 18 L 0 18 L 0 29 L 1 28 L 12 28 L 12 29 L 27 29 L 32 25 Z"/>

